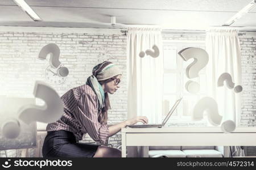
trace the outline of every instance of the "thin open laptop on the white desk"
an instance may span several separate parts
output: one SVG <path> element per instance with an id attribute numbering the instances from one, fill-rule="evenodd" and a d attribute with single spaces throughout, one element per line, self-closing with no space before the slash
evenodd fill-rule
<path id="1" fill-rule="evenodd" d="M 171 108 L 171 111 L 167 114 L 166 118 L 164 118 L 162 124 L 129 125 L 128 127 L 129 128 L 162 128 L 166 124 L 168 119 L 170 118 L 171 114 L 174 113 L 174 111 L 177 108 L 177 105 L 179 105 L 181 99 L 182 99 L 182 97 L 175 102 L 174 106 Z"/>

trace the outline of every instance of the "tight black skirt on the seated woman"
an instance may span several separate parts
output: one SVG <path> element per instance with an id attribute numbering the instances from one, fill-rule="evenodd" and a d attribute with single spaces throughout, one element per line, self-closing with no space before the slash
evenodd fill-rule
<path id="1" fill-rule="evenodd" d="M 43 144 L 44 158 L 84 157 L 92 158 L 98 146 L 76 142 L 71 131 L 48 131 Z"/>

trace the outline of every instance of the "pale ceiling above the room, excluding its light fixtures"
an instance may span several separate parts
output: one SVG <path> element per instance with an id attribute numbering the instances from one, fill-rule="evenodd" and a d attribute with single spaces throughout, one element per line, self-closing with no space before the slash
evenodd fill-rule
<path id="1" fill-rule="evenodd" d="M 165 29 L 206 29 L 221 26 L 251 0 L 26 0 L 43 22 L 34 22 L 13 1 L 0 1 L 0 25 L 113 28 L 116 22 L 159 25 Z M 116 27 L 125 27 L 117 25 Z M 116 28 L 115 27 L 115 28 Z M 232 27 L 256 31 L 256 7 Z"/>

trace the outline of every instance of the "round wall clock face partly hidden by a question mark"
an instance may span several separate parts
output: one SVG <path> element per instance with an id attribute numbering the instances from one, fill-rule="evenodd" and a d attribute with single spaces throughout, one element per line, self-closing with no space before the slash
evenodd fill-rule
<path id="1" fill-rule="evenodd" d="M 46 80 L 52 84 L 62 84 L 67 79 L 67 76 L 58 76 L 57 69 L 52 68 L 50 65 L 46 67 L 45 76 Z"/>

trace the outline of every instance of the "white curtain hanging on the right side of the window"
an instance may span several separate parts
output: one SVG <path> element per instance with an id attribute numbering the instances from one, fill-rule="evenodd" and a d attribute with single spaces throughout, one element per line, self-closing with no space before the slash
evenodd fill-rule
<path id="1" fill-rule="evenodd" d="M 241 113 L 241 93 L 226 87 L 217 87 L 222 73 L 229 73 L 235 83 L 241 85 L 240 40 L 236 29 L 209 29 L 206 35 L 206 50 L 209 54 L 207 82 L 209 96 L 218 104 L 218 112 L 225 120 L 233 120 L 239 125 Z"/>

